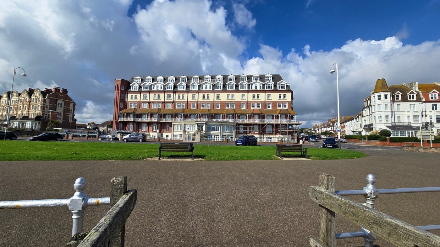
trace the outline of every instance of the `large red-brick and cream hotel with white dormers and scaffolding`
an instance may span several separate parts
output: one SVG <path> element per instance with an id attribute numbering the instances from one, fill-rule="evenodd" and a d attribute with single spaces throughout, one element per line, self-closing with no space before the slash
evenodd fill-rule
<path id="1" fill-rule="evenodd" d="M 135 76 L 115 80 L 114 129 L 150 138 L 292 138 L 293 92 L 280 75 Z"/>

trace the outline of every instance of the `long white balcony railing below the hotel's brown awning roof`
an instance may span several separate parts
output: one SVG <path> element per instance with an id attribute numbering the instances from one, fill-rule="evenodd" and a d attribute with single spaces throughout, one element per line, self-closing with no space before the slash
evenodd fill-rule
<path id="1" fill-rule="evenodd" d="M 233 122 L 233 123 L 286 123 L 301 125 L 300 120 L 289 119 L 228 119 L 228 118 L 119 118 L 119 121 L 135 122 Z"/>

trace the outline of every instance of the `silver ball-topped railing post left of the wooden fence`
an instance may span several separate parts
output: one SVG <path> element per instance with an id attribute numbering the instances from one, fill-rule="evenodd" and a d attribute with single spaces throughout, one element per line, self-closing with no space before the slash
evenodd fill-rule
<path id="1" fill-rule="evenodd" d="M 85 179 L 77 178 L 73 184 L 76 192 L 73 197 L 70 197 L 67 205 L 69 210 L 72 211 L 72 236 L 75 233 L 81 233 L 84 226 L 84 213 L 87 208 L 88 195 L 84 193 Z"/>

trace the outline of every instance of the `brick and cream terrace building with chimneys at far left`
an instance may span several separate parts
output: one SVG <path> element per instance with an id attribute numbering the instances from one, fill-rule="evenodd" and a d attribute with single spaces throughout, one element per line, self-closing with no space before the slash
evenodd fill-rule
<path id="1" fill-rule="evenodd" d="M 75 129 L 75 102 L 67 89 L 32 89 L 4 92 L 0 101 L 0 121 L 7 122 L 7 106 L 11 98 L 10 128 L 44 130 L 50 120 L 58 120 L 55 128 Z"/>

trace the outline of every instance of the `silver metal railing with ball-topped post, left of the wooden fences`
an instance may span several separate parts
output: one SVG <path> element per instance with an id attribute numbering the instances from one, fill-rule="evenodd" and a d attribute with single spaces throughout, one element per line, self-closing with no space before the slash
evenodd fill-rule
<path id="1" fill-rule="evenodd" d="M 78 178 L 73 184 L 76 192 L 69 199 L 12 200 L 0 201 L 0 208 L 55 208 L 68 207 L 72 212 L 72 236 L 81 233 L 84 226 L 84 213 L 88 206 L 110 205 L 110 197 L 90 198 L 84 193 L 85 179 Z"/>

